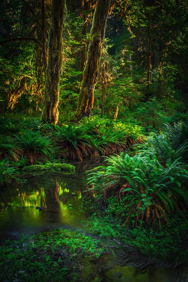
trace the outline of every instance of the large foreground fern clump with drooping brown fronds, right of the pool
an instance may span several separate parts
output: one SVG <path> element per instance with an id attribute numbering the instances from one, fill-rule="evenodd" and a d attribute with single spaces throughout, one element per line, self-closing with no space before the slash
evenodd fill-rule
<path id="1" fill-rule="evenodd" d="M 128 154 L 106 159 L 107 166 L 100 166 L 90 175 L 99 193 L 97 196 L 108 208 L 121 216 L 126 224 L 146 222 L 161 225 L 168 222 L 168 214 L 180 212 L 188 200 L 185 181 L 188 172 L 175 160 L 162 166 L 155 155 Z"/>

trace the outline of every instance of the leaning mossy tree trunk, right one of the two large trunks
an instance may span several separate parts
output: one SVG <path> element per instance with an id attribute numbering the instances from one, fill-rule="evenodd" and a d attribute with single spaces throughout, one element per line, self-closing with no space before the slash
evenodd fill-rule
<path id="1" fill-rule="evenodd" d="M 110 0 L 98 0 L 93 15 L 91 42 L 87 52 L 87 61 L 83 71 L 83 80 L 76 110 L 77 118 L 89 117 L 93 107 L 93 92 L 97 83 L 109 3 Z"/>

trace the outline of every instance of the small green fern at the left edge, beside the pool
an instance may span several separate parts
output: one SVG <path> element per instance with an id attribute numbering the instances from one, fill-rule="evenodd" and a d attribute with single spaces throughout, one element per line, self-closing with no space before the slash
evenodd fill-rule
<path id="1" fill-rule="evenodd" d="M 0 187 L 18 179 L 18 169 L 7 159 L 0 161 Z"/>

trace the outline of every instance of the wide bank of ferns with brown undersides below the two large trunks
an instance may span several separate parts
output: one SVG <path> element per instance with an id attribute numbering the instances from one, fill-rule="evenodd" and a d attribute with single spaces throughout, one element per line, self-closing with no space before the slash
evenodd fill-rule
<path id="1" fill-rule="evenodd" d="M 109 119 L 91 117 L 83 118 L 78 124 L 56 126 L 54 135 L 62 157 L 82 160 L 120 153 L 140 142 L 141 134 L 139 125 L 123 125 Z"/>

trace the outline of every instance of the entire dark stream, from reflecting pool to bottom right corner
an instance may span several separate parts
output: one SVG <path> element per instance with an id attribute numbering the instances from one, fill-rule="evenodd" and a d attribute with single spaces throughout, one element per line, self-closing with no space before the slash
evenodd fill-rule
<path id="1" fill-rule="evenodd" d="M 0 244 L 6 239 L 17 240 L 23 234 L 43 232 L 54 228 L 84 230 L 83 220 L 91 211 L 84 208 L 82 200 L 86 189 L 86 170 L 99 165 L 95 160 L 72 162 L 74 175 L 40 175 L 27 178 L 21 184 L 0 192 Z M 36 206 L 44 206 L 42 211 Z M 95 212 L 97 212 L 95 210 Z M 100 211 L 98 211 L 100 212 Z M 84 231 L 89 236 L 99 236 Z M 103 239 L 101 239 L 103 240 Z M 188 281 L 188 266 L 161 263 L 144 254 L 115 242 L 114 254 L 105 253 L 97 259 L 80 262 L 83 268 L 79 281 L 92 281 L 96 274 L 102 281 L 171 282 Z"/>

